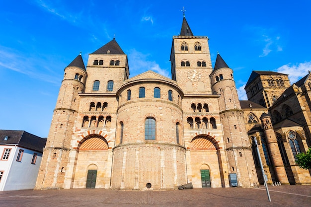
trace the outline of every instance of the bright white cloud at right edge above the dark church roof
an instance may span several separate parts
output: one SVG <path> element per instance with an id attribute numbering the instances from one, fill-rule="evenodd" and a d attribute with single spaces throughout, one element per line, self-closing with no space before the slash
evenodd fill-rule
<path id="1" fill-rule="evenodd" d="M 305 63 L 287 64 L 276 69 L 277 72 L 289 74 L 292 83 L 297 82 L 300 78 L 306 76 L 311 70 L 311 61 Z"/>

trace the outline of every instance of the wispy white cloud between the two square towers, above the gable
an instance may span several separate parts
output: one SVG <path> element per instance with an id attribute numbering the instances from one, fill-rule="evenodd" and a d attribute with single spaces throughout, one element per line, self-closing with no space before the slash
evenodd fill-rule
<path id="1" fill-rule="evenodd" d="M 148 60 L 150 55 L 143 54 L 138 52 L 135 49 L 132 49 L 128 55 L 129 65 L 131 66 L 131 77 L 138 75 L 147 70 L 153 70 L 163 76 L 168 77 L 169 72 L 167 69 L 161 69 L 160 66 L 155 61 Z"/>

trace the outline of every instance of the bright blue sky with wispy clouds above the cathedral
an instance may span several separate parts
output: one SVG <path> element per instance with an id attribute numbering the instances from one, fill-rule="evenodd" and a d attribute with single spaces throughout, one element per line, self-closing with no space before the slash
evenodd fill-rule
<path id="1" fill-rule="evenodd" d="M 194 35 L 210 38 L 234 71 L 239 97 L 252 70 L 311 70 L 309 0 L 0 0 L 0 129 L 47 137 L 64 69 L 113 39 L 128 55 L 130 77 L 170 77 L 172 36 L 182 7 Z"/>

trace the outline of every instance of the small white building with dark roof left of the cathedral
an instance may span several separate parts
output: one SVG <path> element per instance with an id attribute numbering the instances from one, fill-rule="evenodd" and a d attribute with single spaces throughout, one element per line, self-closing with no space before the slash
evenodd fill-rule
<path id="1" fill-rule="evenodd" d="M 45 143 L 25 131 L 0 130 L 0 191 L 34 188 Z"/>

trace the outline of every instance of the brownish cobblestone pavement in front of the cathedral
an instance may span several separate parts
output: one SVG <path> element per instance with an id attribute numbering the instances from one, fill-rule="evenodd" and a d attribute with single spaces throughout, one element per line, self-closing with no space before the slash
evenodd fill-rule
<path id="1" fill-rule="evenodd" d="M 311 207 L 311 186 L 171 191 L 70 189 L 2 191 L 0 207 Z"/>

